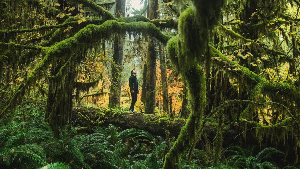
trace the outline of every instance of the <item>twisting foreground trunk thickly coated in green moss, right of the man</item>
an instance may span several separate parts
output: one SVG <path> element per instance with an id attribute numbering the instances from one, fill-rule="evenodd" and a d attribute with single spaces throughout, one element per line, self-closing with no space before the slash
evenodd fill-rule
<path id="1" fill-rule="evenodd" d="M 173 149 L 166 155 L 163 169 L 176 168 L 179 155 L 194 147 L 199 139 L 206 106 L 205 74 L 199 63 L 203 64 L 209 57 L 204 55 L 208 33 L 220 14 L 222 4 L 223 1 L 195 1 L 195 8 L 189 7 L 180 14 L 179 35 L 170 39 L 167 44 L 169 57 L 187 86 L 191 113 L 173 144 Z M 207 11 L 212 7 L 217 8 Z M 201 15 L 204 11 L 207 13 Z"/>

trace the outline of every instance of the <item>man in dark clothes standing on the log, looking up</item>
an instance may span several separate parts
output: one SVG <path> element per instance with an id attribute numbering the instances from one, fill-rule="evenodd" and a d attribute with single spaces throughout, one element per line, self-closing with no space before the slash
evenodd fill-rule
<path id="1" fill-rule="evenodd" d="M 131 70 L 131 76 L 129 77 L 129 88 L 131 92 L 131 106 L 129 108 L 129 111 L 137 113 L 134 110 L 134 104 L 137 102 L 137 94 L 139 94 L 139 89 L 137 88 L 137 71 Z"/>

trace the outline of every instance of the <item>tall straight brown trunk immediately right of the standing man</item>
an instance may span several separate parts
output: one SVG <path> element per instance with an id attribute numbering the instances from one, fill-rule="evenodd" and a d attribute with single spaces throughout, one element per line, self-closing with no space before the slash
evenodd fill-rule
<path id="1" fill-rule="evenodd" d="M 158 0 L 149 1 L 149 19 L 157 18 Z M 147 46 L 147 93 L 145 114 L 154 114 L 155 110 L 155 88 L 156 88 L 156 51 L 155 42 L 152 38 L 148 40 Z"/>

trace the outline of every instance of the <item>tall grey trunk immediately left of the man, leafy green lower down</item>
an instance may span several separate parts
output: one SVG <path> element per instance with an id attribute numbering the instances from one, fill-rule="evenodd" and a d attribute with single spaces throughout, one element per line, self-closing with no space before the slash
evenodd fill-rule
<path id="1" fill-rule="evenodd" d="M 117 17 L 125 16 L 125 0 L 116 0 L 116 14 Z M 111 86 L 110 86 L 110 98 L 108 105 L 110 107 L 119 107 L 121 99 L 121 72 L 122 72 L 122 62 L 123 62 L 123 46 L 124 39 L 122 36 L 115 35 L 114 49 L 113 49 L 113 64 L 111 72 Z"/>

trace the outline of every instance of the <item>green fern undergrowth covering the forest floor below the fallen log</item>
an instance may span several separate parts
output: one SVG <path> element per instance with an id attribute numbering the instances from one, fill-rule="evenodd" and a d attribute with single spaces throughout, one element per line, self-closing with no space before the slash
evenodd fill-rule
<path id="1" fill-rule="evenodd" d="M 49 124 L 43 122 L 43 112 L 43 105 L 25 105 L 17 109 L 10 121 L 0 120 L 0 168 L 158 169 L 163 166 L 167 144 L 161 136 L 113 125 L 64 126 L 55 136 Z M 232 146 L 223 151 L 223 159 L 213 167 L 213 156 L 193 149 L 182 155 L 176 165 L 179 169 L 275 169 L 270 161 L 274 153 L 282 152 L 266 148 L 254 155 L 250 149 Z"/>

